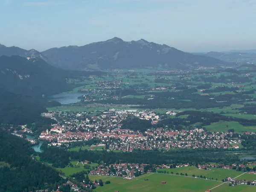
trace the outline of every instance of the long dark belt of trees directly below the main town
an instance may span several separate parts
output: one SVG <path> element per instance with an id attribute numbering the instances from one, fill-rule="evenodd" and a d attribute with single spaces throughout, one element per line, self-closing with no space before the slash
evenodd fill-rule
<path id="1" fill-rule="evenodd" d="M 47 155 L 48 159 L 53 163 L 56 154 L 61 154 L 60 157 L 72 160 L 89 160 L 92 162 L 119 163 L 120 158 L 126 160 L 128 163 L 147 163 L 147 164 L 168 164 L 168 163 L 202 163 L 202 162 L 216 162 L 216 163 L 234 163 L 239 162 L 239 157 L 236 154 L 227 153 L 224 149 L 181 149 L 175 151 L 165 151 L 164 153 L 156 150 L 138 150 L 133 152 L 113 152 L 113 151 L 63 151 L 60 148 L 52 147 L 47 149 L 49 152 L 42 153 L 41 157 Z M 61 151 L 61 152 L 59 152 Z M 43 157 L 44 158 L 44 157 Z M 62 160 L 62 158 L 60 158 Z M 64 162 L 63 162 L 64 163 Z M 67 165 L 67 163 L 66 163 Z"/>

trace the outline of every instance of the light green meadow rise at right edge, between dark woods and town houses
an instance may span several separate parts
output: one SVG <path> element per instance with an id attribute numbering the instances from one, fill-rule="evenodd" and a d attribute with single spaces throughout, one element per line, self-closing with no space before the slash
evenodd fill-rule
<path id="1" fill-rule="evenodd" d="M 239 122 L 234 121 L 219 121 L 215 123 L 211 123 L 211 125 L 204 126 L 207 131 L 228 131 L 229 129 L 234 129 L 238 133 L 244 133 L 246 131 L 256 131 L 256 127 L 253 126 L 243 126 L 239 124 Z"/>

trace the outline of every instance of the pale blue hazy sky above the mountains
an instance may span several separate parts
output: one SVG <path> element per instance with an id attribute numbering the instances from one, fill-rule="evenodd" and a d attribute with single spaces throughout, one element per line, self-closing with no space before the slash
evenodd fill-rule
<path id="1" fill-rule="evenodd" d="M 118 37 L 188 52 L 256 49 L 256 0 L 0 0 L 0 44 L 43 51 Z"/>

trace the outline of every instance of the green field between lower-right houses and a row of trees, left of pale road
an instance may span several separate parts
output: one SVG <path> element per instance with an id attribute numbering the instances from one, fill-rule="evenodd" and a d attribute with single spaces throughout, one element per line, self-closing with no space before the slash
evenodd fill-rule
<path id="1" fill-rule="evenodd" d="M 236 177 L 238 175 L 241 175 L 242 172 L 237 172 L 236 170 L 229 170 L 229 169 L 217 169 L 217 168 L 210 168 L 207 170 L 204 169 L 198 169 L 195 167 L 179 167 L 175 169 L 159 169 L 161 171 L 169 171 L 169 175 L 172 175 L 171 172 L 173 172 L 173 175 L 176 175 L 176 173 L 183 173 L 183 175 L 188 174 L 188 176 L 192 177 L 192 175 L 195 175 L 196 177 L 200 177 L 201 175 L 208 178 L 213 178 L 213 180 L 216 180 L 216 178 L 220 181 L 226 177 Z"/>

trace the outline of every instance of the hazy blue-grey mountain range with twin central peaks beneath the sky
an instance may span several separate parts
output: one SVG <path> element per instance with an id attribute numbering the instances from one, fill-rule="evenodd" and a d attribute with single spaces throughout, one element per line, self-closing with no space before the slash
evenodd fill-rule
<path id="1" fill-rule="evenodd" d="M 160 45 L 144 39 L 123 41 L 116 37 L 81 47 L 51 48 L 43 52 L 0 45 L 0 55 L 41 58 L 54 67 L 67 70 L 192 69 L 199 66 L 227 65 L 225 61 L 206 55 L 190 54 L 165 44 Z"/>

